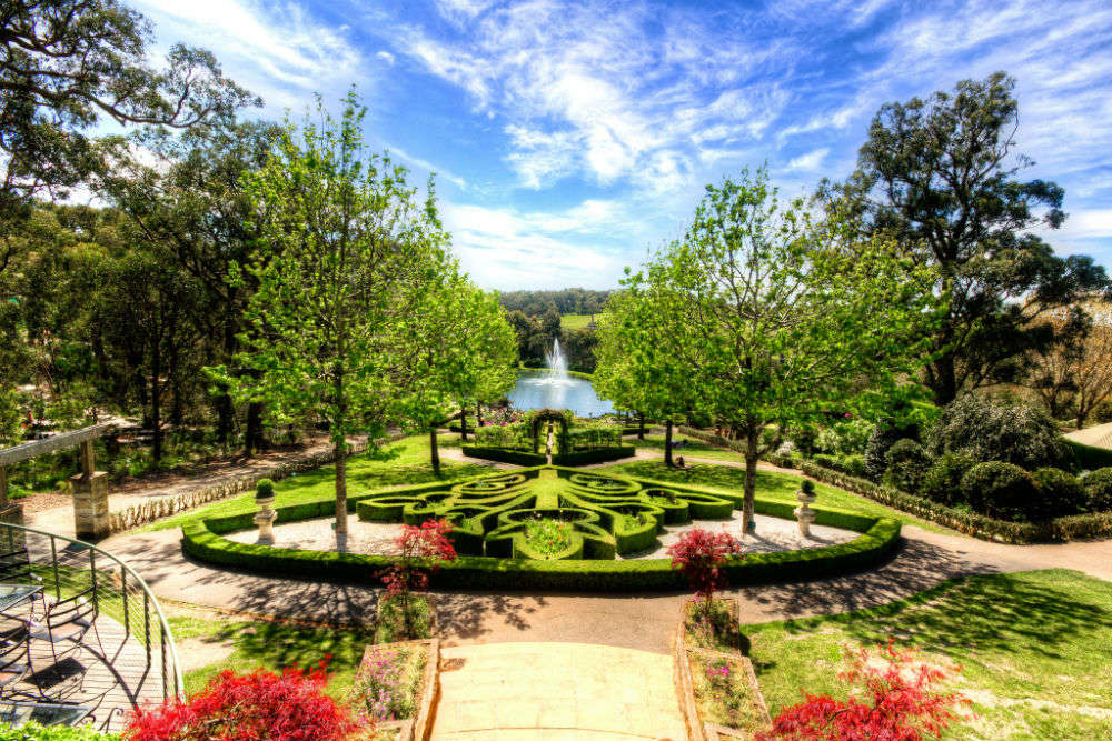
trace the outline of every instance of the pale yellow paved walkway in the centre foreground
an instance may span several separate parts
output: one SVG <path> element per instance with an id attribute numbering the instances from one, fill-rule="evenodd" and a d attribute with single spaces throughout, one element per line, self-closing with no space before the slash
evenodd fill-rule
<path id="1" fill-rule="evenodd" d="M 687 738 L 672 657 L 583 643 L 447 648 L 433 741 Z"/>

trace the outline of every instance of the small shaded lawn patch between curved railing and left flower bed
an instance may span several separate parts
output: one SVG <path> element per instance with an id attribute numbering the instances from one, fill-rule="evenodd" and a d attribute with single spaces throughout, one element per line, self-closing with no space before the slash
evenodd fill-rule
<path id="1" fill-rule="evenodd" d="M 205 687 L 225 669 L 245 672 L 262 667 L 280 672 L 295 664 L 309 669 L 331 654 L 328 693 L 345 699 L 363 659 L 364 647 L 375 642 L 370 629 L 311 628 L 265 620 L 170 618 L 168 622 L 179 655 L 185 651 L 201 651 L 207 643 L 231 643 L 235 647 L 230 657 L 188 672 L 185 675 L 187 694 Z"/>

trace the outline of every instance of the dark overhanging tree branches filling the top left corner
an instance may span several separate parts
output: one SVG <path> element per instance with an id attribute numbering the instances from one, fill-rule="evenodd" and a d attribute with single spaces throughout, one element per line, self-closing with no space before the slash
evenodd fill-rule
<path id="1" fill-rule="evenodd" d="M 8 218 L 100 167 L 83 131 L 101 117 L 185 129 L 258 102 L 207 51 L 177 44 L 165 69 L 151 66 L 150 26 L 116 0 L 12 0 L 0 9 L 0 213 Z M 10 233 L 7 226 L 0 231 Z"/>

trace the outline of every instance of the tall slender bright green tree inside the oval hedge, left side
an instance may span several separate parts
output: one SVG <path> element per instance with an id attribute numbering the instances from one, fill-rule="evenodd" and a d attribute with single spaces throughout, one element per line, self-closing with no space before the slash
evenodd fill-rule
<path id="1" fill-rule="evenodd" d="M 339 121 L 288 127 L 261 170 L 245 176 L 259 249 L 244 270 L 257 290 L 245 310 L 238 397 L 264 400 L 271 423 L 314 414 L 336 451 L 336 535 L 347 538 L 347 437 L 378 427 L 398 358 L 393 338 L 417 317 L 443 270 L 447 236 L 429 186 L 424 203 L 404 168 L 368 153 L 354 92 Z"/>

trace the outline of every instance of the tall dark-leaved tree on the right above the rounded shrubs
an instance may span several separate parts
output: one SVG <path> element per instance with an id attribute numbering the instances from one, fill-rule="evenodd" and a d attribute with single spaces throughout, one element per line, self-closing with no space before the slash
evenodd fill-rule
<path id="1" fill-rule="evenodd" d="M 996 72 L 960 82 L 953 94 L 884 106 L 857 170 L 820 188 L 835 208 L 848 200 L 867 234 L 894 239 L 910 266 L 937 268 L 931 288 L 949 310 L 926 330 L 925 381 L 939 405 L 1016 379 L 1031 349 L 1054 342 L 1032 320 L 1086 292 L 1110 290 L 1092 259 L 1059 258 L 1030 233 L 1062 224 L 1064 191 L 1019 178 L 1033 162 L 1014 152 L 1014 79 Z"/>

